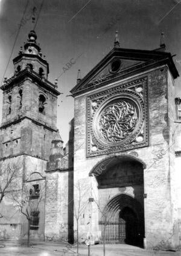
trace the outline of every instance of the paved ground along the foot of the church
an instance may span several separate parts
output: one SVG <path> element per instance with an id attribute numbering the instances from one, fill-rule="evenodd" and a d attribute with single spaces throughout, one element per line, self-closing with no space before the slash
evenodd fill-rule
<path id="1" fill-rule="evenodd" d="M 76 256 L 76 246 L 66 247 L 66 243 L 35 242 L 30 248 L 20 246 L 15 241 L 0 241 L 1 256 Z M 88 255 L 87 246 L 80 246 L 80 256 Z M 103 245 L 91 246 L 90 256 L 102 256 Z M 130 245 L 106 245 L 106 256 L 181 256 L 181 251 L 151 251 Z"/>

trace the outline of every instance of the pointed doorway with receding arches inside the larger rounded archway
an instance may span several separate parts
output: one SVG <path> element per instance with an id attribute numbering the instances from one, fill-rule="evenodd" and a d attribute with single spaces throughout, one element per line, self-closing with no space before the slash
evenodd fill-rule
<path id="1" fill-rule="evenodd" d="M 126 194 L 116 195 L 101 215 L 100 228 L 106 243 L 142 246 L 144 211 L 138 200 Z"/>

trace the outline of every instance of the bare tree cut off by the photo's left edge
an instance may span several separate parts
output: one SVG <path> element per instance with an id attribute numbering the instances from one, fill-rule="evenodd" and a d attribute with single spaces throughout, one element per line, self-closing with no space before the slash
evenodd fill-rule
<path id="1" fill-rule="evenodd" d="M 0 163 L 0 203 L 5 194 L 16 187 L 17 180 L 21 177 L 21 166 L 20 162 L 14 160 Z M 0 214 L 0 218 L 2 217 L 3 215 Z"/>

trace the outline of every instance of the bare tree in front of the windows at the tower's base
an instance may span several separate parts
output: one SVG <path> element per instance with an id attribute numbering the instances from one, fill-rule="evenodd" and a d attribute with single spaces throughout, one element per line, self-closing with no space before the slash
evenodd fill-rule
<path id="1" fill-rule="evenodd" d="M 27 246 L 30 245 L 30 224 L 33 218 L 39 218 L 39 205 L 45 199 L 45 186 L 24 182 L 20 189 L 11 192 L 14 206 L 27 218 Z"/>

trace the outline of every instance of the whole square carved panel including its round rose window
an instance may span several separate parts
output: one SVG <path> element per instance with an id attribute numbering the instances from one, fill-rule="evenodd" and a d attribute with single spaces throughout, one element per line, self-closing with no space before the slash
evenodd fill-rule
<path id="1" fill-rule="evenodd" d="M 87 157 L 148 146 L 147 77 L 87 97 Z"/>

